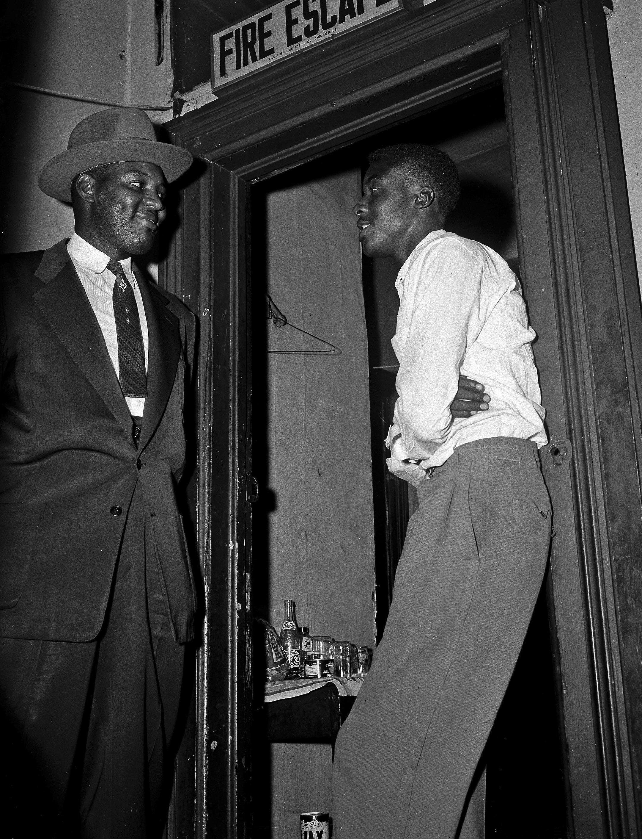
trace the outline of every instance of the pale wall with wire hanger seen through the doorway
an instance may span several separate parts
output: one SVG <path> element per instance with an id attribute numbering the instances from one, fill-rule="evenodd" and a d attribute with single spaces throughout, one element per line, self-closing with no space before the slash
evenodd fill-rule
<path id="1" fill-rule="evenodd" d="M 339 164 L 339 165 L 337 165 Z M 251 188 L 253 614 L 284 600 L 315 635 L 373 645 L 367 338 L 351 207 L 360 169 L 325 159 Z M 265 675 L 254 670 L 263 701 Z M 262 736 L 261 736 L 262 735 Z M 329 743 L 253 730 L 253 835 L 285 839 L 331 810 Z"/>

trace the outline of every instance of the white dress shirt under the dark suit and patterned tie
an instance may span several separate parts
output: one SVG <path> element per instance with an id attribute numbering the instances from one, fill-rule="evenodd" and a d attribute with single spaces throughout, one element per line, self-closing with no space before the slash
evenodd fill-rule
<path id="1" fill-rule="evenodd" d="M 107 345 L 107 352 L 111 358 L 111 363 L 116 371 L 116 378 L 120 381 L 118 376 L 118 338 L 116 336 L 116 318 L 114 317 L 114 303 L 113 292 L 116 277 L 111 274 L 107 268 L 109 257 L 106 253 L 102 253 L 85 239 L 81 238 L 77 233 L 74 233 L 67 242 L 67 252 L 70 255 L 71 262 L 74 263 L 74 268 L 80 278 L 82 287 L 91 303 L 91 308 L 94 310 L 98 325 L 101 327 L 102 335 L 105 338 Z M 132 258 L 121 259 L 119 262 L 125 272 L 125 276 L 134 289 L 134 297 L 136 298 L 136 305 L 138 307 L 138 317 L 141 322 L 142 345 L 145 349 L 145 373 L 148 370 L 148 350 L 149 350 L 149 336 L 148 336 L 148 321 L 145 317 L 145 308 L 142 305 L 141 289 L 138 288 L 136 278 L 132 272 Z M 137 399 L 133 397 L 125 397 L 127 407 L 132 416 L 142 417 L 142 412 L 145 409 L 145 399 Z"/>

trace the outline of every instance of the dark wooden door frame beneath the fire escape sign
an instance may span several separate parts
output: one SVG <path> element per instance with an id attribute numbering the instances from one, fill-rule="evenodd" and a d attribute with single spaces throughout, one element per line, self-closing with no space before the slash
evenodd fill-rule
<path id="1" fill-rule="evenodd" d="M 198 296 L 201 321 L 206 616 L 195 751 L 179 765 L 194 779 L 194 816 L 181 824 L 195 836 L 248 835 L 251 182 L 500 76 L 547 422 L 572 451 L 563 466 L 543 456 L 557 509 L 549 582 L 569 833 L 639 836 L 642 312 L 598 0 L 438 0 L 230 85 L 168 124 L 207 169 L 185 190 L 165 272 L 169 288 Z"/>

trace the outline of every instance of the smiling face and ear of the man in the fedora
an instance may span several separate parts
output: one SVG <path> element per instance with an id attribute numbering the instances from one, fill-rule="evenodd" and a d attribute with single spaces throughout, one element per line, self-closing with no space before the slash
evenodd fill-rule
<path id="1" fill-rule="evenodd" d="M 163 169 L 152 163 L 114 163 L 80 175 L 83 199 L 76 232 L 112 259 L 148 253 L 166 216 Z M 79 229 L 79 227 L 81 229 Z"/>

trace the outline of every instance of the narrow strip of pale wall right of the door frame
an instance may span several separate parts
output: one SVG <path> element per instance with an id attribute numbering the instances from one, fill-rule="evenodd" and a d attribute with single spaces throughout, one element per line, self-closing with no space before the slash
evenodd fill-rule
<path id="1" fill-rule="evenodd" d="M 607 27 L 638 276 L 642 280 L 642 0 L 615 0 Z"/>

